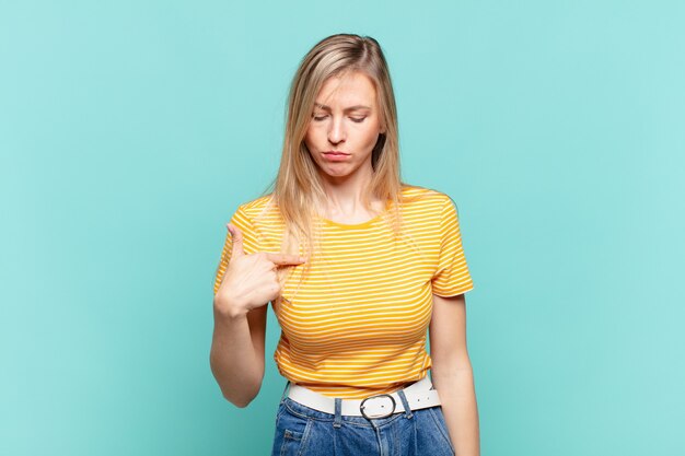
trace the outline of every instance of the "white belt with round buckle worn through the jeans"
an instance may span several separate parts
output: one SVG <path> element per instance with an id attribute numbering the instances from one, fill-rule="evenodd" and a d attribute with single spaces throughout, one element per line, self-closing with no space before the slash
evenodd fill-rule
<path id="1" fill-rule="evenodd" d="M 422 379 L 404 388 L 403 391 L 411 410 L 426 409 L 440 405 L 437 389 L 431 389 L 432 383 L 428 375 Z M 304 386 L 290 384 L 288 397 L 305 407 L 325 413 L 335 413 L 335 398 L 321 395 Z M 365 417 L 369 419 L 387 418 L 393 413 L 405 411 L 404 404 L 397 391 L 364 399 L 341 399 L 340 414 L 348 417 Z"/>

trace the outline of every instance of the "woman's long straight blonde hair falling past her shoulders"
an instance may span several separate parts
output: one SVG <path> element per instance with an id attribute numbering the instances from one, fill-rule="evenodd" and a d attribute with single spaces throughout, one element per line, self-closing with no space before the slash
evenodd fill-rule
<path id="1" fill-rule="evenodd" d="M 379 43 L 369 36 L 337 34 L 318 42 L 302 59 L 288 97 L 283 149 L 278 175 L 271 183 L 271 203 L 286 224 L 281 250 L 316 255 L 318 234 L 313 208 L 325 206 L 326 194 L 316 164 L 304 144 L 315 98 L 328 78 L 360 71 L 375 85 L 381 131 L 371 154 L 373 177 L 363 204 L 371 210 L 371 199 L 390 203 L 385 219 L 396 236 L 402 225 L 399 200 L 403 183 L 399 174 L 397 109 L 387 62 Z M 271 204 L 269 204 L 271 206 Z M 309 270 L 310 261 L 307 261 Z"/>

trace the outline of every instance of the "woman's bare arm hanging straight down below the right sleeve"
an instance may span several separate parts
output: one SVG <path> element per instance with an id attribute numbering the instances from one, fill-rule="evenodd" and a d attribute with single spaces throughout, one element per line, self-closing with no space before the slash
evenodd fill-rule
<path id="1" fill-rule="evenodd" d="M 466 350 L 466 302 L 463 294 L 433 294 L 429 327 L 431 377 L 456 456 L 479 456 L 478 407 Z"/>

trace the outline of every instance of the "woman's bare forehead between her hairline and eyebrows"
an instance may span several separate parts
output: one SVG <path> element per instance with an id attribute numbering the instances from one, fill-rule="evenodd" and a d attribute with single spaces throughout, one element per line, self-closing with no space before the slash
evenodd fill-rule
<path id="1" fill-rule="evenodd" d="M 360 71 L 330 77 L 324 81 L 315 103 L 342 108 L 356 105 L 374 107 L 375 85 L 371 78 Z"/>

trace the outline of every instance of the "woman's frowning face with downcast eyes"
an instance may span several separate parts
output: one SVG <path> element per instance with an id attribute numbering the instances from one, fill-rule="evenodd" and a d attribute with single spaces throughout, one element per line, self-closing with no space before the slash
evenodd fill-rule
<path id="1" fill-rule="evenodd" d="M 373 82 L 351 72 L 324 82 L 304 143 L 324 177 L 340 182 L 372 174 L 371 152 L 382 132 Z"/>

